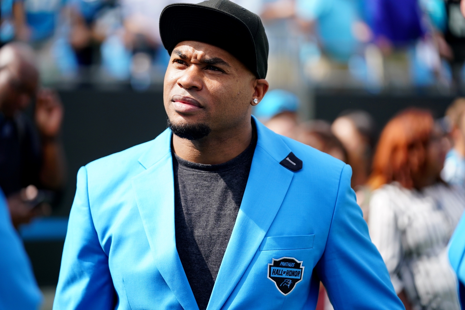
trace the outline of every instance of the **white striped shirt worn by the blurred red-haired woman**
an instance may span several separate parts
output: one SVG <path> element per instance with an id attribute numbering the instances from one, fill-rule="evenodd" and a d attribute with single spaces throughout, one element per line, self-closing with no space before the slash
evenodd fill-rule
<path id="1" fill-rule="evenodd" d="M 447 244 L 464 207 L 464 189 L 443 183 L 418 191 L 393 182 L 373 192 L 370 237 L 413 309 L 460 309 Z"/>

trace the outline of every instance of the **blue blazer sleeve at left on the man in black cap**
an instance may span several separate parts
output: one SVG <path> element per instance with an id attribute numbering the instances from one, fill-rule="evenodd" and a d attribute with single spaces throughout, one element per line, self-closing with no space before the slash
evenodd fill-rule
<path id="1" fill-rule="evenodd" d="M 81 167 L 53 309 L 113 309 L 114 300 L 108 257 L 100 246 L 90 211 L 87 171 Z"/>

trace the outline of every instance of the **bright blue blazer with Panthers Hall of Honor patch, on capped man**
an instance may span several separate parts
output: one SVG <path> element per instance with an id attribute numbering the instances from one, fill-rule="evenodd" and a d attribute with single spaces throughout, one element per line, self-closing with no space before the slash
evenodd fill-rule
<path id="1" fill-rule="evenodd" d="M 320 280 L 336 310 L 404 309 L 350 166 L 253 119 L 257 147 L 207 309 L 315 309 Z M 171 136 L 80 169 L 53 309 L 198 310 L 176 251 Z M 290 152 L 301 170 L 279 164 Z M 305 268 L 286 296 L 268 278 L 282 257 Z"/>

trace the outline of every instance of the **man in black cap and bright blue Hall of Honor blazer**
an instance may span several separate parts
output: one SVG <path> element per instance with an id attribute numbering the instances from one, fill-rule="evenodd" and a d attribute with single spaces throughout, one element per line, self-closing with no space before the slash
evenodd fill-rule
<path id="1" fill-rule="evenodd" d="M 351 168 L 268 130 L 259 17 L 228 0 L 160 17 L 168 129 L 78 172 L 54 309 L 404 309 Z"/>

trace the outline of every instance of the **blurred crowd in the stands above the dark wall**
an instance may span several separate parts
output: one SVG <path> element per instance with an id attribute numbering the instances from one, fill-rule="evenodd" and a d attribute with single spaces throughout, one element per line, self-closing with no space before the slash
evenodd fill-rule
<path id="1" fill-rule="evenodd" d="M 163 79 L 169 57 L 158 19 L 172 2 L 3 0 L 0 41 L 32 46 L 45 84 L 129 81 L 144 90 Z M 264 22 L 273 87 L 465 87 L 463 1 L 235 2 Z"/>

